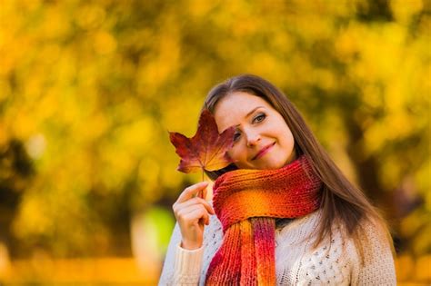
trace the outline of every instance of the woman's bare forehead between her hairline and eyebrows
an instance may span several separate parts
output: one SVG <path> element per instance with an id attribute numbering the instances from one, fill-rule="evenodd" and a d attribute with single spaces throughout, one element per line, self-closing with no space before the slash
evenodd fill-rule
<path id="1" fill-rule="evenodd" d="M 248 116 L 259 108 L 271 108 L 271 105 L 256 95 L 236 92 L 222 98 L 215 108 L 215 118 L 218 132 L 226 128 L 242 123 Z"/>

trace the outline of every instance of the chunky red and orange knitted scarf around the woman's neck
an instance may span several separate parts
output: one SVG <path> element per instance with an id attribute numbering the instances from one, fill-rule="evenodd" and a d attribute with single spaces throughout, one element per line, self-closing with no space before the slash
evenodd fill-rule
<path id="1" fill-rule="evenodd" d="M 275 285 L 275 219 L 316 211 L 321 187 L 305 155 L 278 170 L 241 169 L 220 176 L 213 202 L 224 239 L 205 283 Z"/>

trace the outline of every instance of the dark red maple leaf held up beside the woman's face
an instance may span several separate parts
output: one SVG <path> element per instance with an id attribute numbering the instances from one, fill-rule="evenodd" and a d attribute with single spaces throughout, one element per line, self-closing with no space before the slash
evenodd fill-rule
<path id="1" fill-rule="evenodd" d="M 215 171 L 225 168 L 233 162 L 226 151 L 234 144 L 234 133 L 235 127 L 231 126 L 219 134 L 216 120 L 208 110 L 201 113 L 193 138 L 170 132 L 169 139 L 181 158 L 177 170 L 183 173 L 195 173 L 203 172 L 204 169 Z"/>

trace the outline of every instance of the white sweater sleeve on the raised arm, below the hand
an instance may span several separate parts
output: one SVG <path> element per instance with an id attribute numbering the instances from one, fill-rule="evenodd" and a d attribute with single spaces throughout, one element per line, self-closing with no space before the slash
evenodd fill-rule
<path id="1" fill-rule="evenodd" d="M 180 247 L 181 232 L 175 223 L 167 247 L 165 262 L 158 285 L 197 285 L 201 271 L 204 247 L 188 251 Z"/>

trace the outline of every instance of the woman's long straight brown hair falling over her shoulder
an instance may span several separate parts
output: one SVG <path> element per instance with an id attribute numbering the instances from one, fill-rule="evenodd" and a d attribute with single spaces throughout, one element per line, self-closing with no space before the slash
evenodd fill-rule
<path id="1" fill-rule="evenodd" d="M 364 235 L 365 230 L 362 222 L 367 221 L 373 222 L 378 229 L 382 230 L 394 252 L 390 233 L 381 214 L 368 202 L 364 192 L 347 180 L 346 176 L 336 166 L 336 163 L 332 161 L 321 144 L 317 142 L 315 135 L 307 126 L 296 106 L 276 86 L 259 76 L 241 74 L 213 87 L 206 96 L 203 110 L 208 109 L 211 113 L 214 113 L 218 101 L 235 92 L 245 92 L 259 96 L 283 116 L 294 135 L 296 155 L 308 155 L 314 171 L 322 180 L 324 184 L 321 203 L 322 220 L 318 222 L 316 228 L 315 247 L 326 237 L 332 239 L 332 225 L 334 222 L 338 222 L 344 226 L 343 230 L 345 230 L 346 235 L 353 238 L 364 262 L 366 236 Z M 207 172 L 207 175 L 215 180 L 219 175 L 235 169 L 236 166 L 231 164 L 225 169 Z"/>

